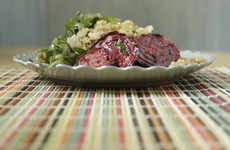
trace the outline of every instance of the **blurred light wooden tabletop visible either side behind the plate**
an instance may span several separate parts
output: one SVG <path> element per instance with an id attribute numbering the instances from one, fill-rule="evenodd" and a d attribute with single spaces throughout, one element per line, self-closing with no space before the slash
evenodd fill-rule
<path id="1" fill-rule="evenodd" d="M 41 48 L 42 47 L 0 47 L 0 68 L 24 68 L 22 65 L 13 61 L 13 56 L 23 53 L 33 53 Z M 230 52 L 202 52 L 216 57 L 216 61 L 209 67 L 230 66 Z"/>

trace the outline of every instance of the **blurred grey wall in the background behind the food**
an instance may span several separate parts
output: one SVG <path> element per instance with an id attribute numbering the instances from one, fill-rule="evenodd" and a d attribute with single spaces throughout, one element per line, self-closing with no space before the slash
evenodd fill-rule
<path id="1" fill-rule="evenodd" d="M 180 49 L 230 51 L 229 0 L 1 0 L 0 46 L 48 46 L 77 11 L 153 25 Z"/>

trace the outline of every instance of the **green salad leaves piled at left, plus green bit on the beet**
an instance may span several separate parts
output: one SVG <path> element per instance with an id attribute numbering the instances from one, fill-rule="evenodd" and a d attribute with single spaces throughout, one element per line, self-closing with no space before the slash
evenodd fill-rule
<path id="1" fill-rule="evenodd" d="M 47 69 L 50 69 L 57 64 L 67 64 L 74 66 L 77 58 L 87 50 L 80 47 L 71 47 L 67 43 L 67 38 L 73 34 L 77 34 L 82 28 L 94 28 L 99 20 L 105 20 L 113 24 L 119 24 L 122 20 L 115 17 L 102 17 L 100 13 L 88 13 L 86 15 L 78 12 L 73 18 L 70 18 L 65 23 L 65 35 L 55 37 L 49 48 L 41 49 L 36 53 L 34 62 L 38 64 L 48 63 Z M 117 43 L 122 53 L 126 53 L 123 43 Z"/>

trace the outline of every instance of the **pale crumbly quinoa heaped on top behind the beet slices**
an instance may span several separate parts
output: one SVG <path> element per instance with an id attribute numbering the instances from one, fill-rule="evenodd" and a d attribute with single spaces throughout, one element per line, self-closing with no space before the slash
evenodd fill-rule
<path id="1" fill-rule="evenodd" d="M 124 33 L 128 37 L 136 37 L 141 34 L 151 33 L 152 30 L 153 26 L 151 25 L 142 28 L 130 20 L 125 20 L 120 24 L 112 24 L 105 20 L 99 20 L 94 28 L 82 28 L 77 34 L 67 38 L 67 42 L 71 47 L 80 47 L 88 50 L 99 38 L 112 31 Z"/>

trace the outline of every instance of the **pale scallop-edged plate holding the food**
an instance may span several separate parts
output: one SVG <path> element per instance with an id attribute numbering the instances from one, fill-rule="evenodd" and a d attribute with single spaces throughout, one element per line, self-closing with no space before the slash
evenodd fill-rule
<path id="1" fill-rule="evenodd" d="M 35 72 L 44 70 L 48 64 L 36 64 L 30 60 L 34 59 L 35 53 L 22 54 L 13 57 L 13 60 L 22 64 L 26 68 Z M 200 64 L 190 64 L 187 66 L 177 65 L 170 67 L 153 66 L 142 68 L 131 66 L 118 68 L 114 66 L 91 67 L 91 66 L 68 66 L 59 64 L 54 68 L 46 70 L 44 75 L 49 79 L 67 85 L 80 87 L 144 87 L 168 84 L 176 81 L 186 74 L 198 71 L 215 61 L 215 57 L 200 52 L 182 51 L 182 57 L 202 56 L 206 59 Z"/>

